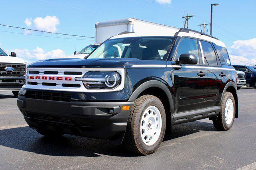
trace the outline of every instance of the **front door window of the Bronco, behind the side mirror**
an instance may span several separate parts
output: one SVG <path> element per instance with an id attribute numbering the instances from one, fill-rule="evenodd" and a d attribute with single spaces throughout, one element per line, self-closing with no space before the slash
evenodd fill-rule
<path id="1" fill-rule="evenodd" d="M 197 63 L 199 64 L 198 48 L 196 45 L 196 39 L 183 38 L 177 49 L 175 59 L 179 61 L 181 54 L 194 54 L 197 57 Z"/>

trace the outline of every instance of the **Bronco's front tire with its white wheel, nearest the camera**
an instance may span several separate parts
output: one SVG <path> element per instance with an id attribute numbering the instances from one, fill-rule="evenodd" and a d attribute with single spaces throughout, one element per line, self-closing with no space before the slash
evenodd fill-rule
<path id="1" fill-rule="evenodd" d="M 162 102 L 156 96 L 141 96 L 130 111 L 124 145 L 136 154 L 152 154 L 162 143 L 165 130 L 166 115 Z"/>

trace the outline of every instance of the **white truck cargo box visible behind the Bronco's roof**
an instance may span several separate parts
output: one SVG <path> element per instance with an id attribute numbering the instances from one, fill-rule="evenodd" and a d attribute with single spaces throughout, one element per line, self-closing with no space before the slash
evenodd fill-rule
<path id="1" fill-rule="evenodd" d="M 136 32 L 136 33 L 176 33 L 179 28 L 170 27 L 149 21 L 129 18 L 124 20 L 104 21 L 95 24 L 95 43 L 100 44 L 108 38 L 118 35 L 122 32 Z"/>

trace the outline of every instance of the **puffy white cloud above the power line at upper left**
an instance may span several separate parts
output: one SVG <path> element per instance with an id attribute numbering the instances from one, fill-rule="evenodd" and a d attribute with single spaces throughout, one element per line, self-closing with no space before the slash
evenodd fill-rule
<path id="1" fill-rule="evenodd" d="M 26 18 L 24 23 L 28 27 L 39 29 L 42 31 L 56 32 L 57 26 L 60 25 L 60 20 L 56 16 L 46 16 L 44 18 L 37 17 L 33 20 L 32 18 Z"/>

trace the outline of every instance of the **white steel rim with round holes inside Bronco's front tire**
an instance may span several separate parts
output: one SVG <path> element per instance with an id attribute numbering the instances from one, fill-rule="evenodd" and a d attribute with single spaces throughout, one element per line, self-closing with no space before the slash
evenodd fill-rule
<path id="1" fill-rule="evenodd" d="M 149 106 L 140 121 L 140 135 L 145 145 L 151 146 L 158 141 L 162 129 L 162 117 L 156 106 Z"/>

